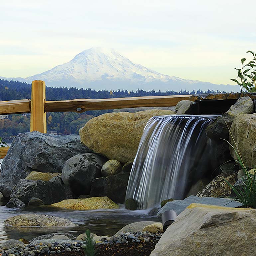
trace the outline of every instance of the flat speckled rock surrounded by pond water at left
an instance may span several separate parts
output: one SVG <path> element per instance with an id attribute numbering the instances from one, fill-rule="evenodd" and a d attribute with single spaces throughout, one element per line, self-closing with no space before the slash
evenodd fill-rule
<path id="1" fill-rule="evenodd" d="M 67 219 L 56 216 L 41 214 L 22 214 L 8 218 L 4 221 L 6 227 L 58 227 L 58 226 L 75 226 L 74 223 Z"/>

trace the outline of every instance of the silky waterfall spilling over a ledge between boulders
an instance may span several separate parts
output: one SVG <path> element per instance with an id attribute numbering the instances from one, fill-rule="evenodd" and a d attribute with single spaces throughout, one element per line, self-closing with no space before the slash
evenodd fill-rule
<path id="1" fill-rule="evenodd" d="M 135 199 L 141 209 L 159 206 L 164 199 L 184 199 L 189 185 L 216 168 L 216 160 L 211 158 L 213 147 L 205 134 L 214 118 L 152 117 L 141 137 L 126 199 Z"/>

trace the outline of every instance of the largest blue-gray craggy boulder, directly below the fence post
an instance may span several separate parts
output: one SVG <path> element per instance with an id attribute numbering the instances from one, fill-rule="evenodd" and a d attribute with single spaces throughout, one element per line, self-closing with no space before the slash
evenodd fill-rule
<path id="1" fill-rule="evenodd" d="M 1 166 L 0 191 L 9 197 L 12 185 L 32 171 L 62 172 L 66 160 L 92 152 L 80 143 L 78 135 L 50 135 L 28 132 L 17 135 Z"/>

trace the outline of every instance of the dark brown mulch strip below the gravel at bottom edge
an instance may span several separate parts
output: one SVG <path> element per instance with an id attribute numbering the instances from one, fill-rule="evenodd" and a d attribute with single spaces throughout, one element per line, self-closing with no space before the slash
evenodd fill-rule
<path id="1" fill-rule="evenodd" d="M 156 243 L 100 245 L 96 256 L 149 256 Z"/>

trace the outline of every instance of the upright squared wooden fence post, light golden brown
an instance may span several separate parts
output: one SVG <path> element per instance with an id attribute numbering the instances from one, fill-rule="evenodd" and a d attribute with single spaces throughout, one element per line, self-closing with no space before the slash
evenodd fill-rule
<path id="1" fill-rule="evenodd" d="M 45 103 L 45 82 L 35 80 L 32 82 L 31 91 L 31 116 L 30 116 L 30 131 L 47 132 L 46 128 L 46 112 L 44 109 Z"/>

